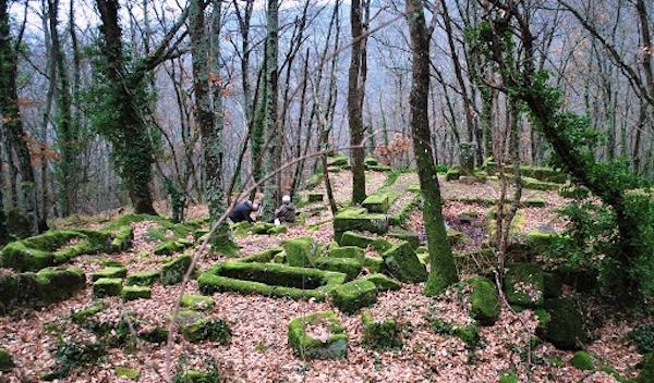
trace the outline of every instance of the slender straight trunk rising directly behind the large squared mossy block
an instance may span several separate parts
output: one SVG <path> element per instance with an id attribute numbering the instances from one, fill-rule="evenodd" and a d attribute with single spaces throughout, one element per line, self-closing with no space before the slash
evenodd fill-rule
<path id="1" fill-rule="evenodd" d="M 352 168 L 352 203 L 365 199 L 364 149 L 361 147 L 364 135 L 363 97 L 365 91 L 365 37 L 363 35 L 362 1 L 352 0 L 350 23 L 352 27 L 352 53 L 348 78 L 348 122 L 350 124 L 350 165 Z"/>

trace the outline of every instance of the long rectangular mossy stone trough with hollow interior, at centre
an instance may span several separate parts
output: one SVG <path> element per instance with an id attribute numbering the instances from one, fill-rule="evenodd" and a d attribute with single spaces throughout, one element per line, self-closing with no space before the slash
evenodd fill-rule
<path id="1" fill-rule="evenodd" d="M 197 279 L 203 294 L 241 292 L 293 299 L 324 300 L 346 274 L 276 263 L 222 262 Z"/>

